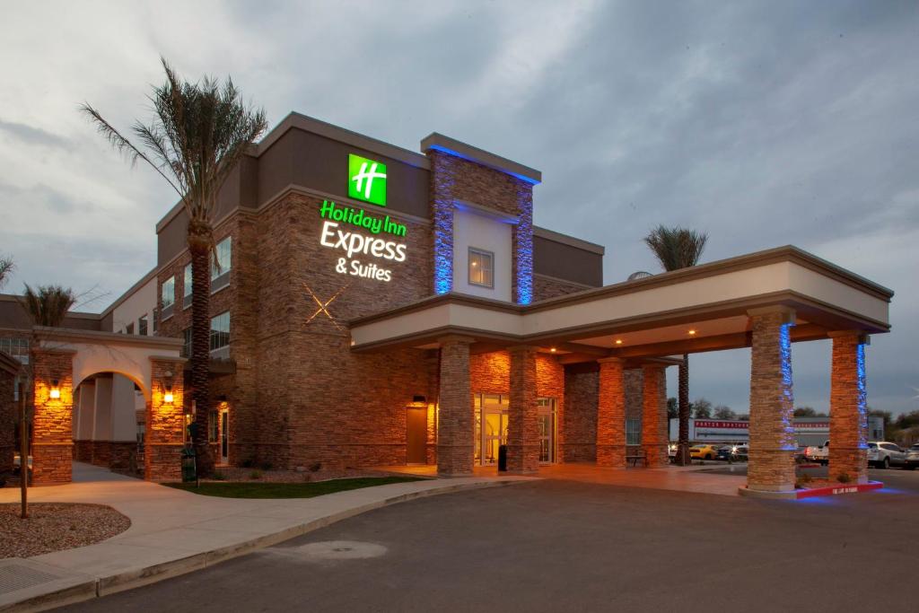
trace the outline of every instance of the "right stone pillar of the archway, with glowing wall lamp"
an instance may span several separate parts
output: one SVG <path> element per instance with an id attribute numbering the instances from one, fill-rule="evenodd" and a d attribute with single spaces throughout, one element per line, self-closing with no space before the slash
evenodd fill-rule
<path id="1" fill-rule="evenodd" d="M 183 410 L 184 359 L 150 358 L 150 401 L 144 435 L 143 478 L 147 481 L 178 481 L 182 477 L 181 451 L 184 446 Z M 166 403 L 166 388 L 172 386 L 173 402 Z"/>

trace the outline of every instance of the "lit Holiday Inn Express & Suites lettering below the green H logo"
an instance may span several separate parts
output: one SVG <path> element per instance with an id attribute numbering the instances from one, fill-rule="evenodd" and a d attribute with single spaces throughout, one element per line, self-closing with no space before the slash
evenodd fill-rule
<path id="1" fill-rule="evenodd" d="M 380 238 L 358 233 L 352 228 L 367 230 L 371 234 L 384 233 L 401 238 L 406 233 L 402 223 L 392 221 L 389 215 L 380 219 L 364 210 L 342 207 L 330 200 L 323 200 L 319 216 L 325 220 L 319 244 L 340 250 L 344 254 L 338 258 L 335 272 L 377 281 L 392 280 L 392 271 L 385 266 L 390 262 L 404 262 L 408 246 L 399 241 L 387 240 L 389 237 Z M 374 258 L 380 262 L 374 262 Z"/>

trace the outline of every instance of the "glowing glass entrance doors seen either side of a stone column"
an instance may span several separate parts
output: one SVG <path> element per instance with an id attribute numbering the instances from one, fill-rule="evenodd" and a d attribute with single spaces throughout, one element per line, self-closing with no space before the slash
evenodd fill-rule
<path id="1" fill-rule="evenodd" d="M 507 444 L 507 418 L 510 397 L 507 394 L 475 394 L 475 463 L 494 466 L 498 448 Z M 557 423 L 555 399 L 539 398 L 539 462 L 556 461 Z"/>

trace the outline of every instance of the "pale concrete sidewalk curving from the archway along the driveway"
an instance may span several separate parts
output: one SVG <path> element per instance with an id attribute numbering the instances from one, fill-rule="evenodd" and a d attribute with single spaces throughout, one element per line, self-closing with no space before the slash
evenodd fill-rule
<path id="1" fill-rule="evenodd" d="M 525 481 L 530 479 L 433 479 L 316 498 L 248 500 L 190 494 L 74 463 L 73 483 L 30 488 L 30 502 L 109 505 L 130 517 L 130 528 L 96 545 L 0 561 L 0 610 L 105 596 L 199 570 L 380 506 Z M 0 503 L 17 501 L 17 489 L 0 490 Z"/>

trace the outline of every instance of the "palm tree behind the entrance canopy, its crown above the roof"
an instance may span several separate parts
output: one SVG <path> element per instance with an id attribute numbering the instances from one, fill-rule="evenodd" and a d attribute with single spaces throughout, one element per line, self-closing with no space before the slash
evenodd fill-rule
<path id="1" fill-rule="evenodd" d="M 694 267 L 698 264 L 699 257 L 705 250 L 709 240 L 707 233 L 687 230 L 675 226 L 668 228 L 659 225 L 644 237 L 653 254 L 661 263 L 664 270 L 678 270 L 680 268 Z M 676 452 L 676 463 L 682 465 L 689 463 L 689 354 L 683 354 L 683 362 L 679 367 L 679 440 Z"/>

